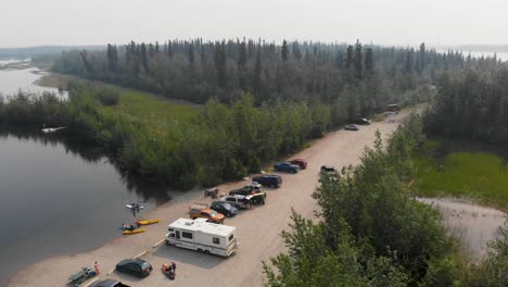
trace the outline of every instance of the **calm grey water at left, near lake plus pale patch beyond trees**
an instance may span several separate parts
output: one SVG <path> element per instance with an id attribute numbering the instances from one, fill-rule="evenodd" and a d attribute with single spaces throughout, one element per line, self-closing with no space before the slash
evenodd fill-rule
<path id="1" fill-rule="evenodd" d="M 36 70 L 0 71 L 0 91 L 31 87 Z M 118 226 L 169 200 L 166 191 L 120 173 L 97 148 L 58 134 L 0 129 L 0 286 L 37 261 L 122 236 Z M 125 208 L 135 201 L 145 207 L 136 215 Z"/>

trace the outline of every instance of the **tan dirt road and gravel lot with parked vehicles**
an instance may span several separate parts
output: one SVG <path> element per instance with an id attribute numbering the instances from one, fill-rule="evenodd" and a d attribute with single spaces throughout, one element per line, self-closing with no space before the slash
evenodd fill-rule
<path id="1" fill-rule="evenodd" d="M 36 263 L 17 273 L 10 286 L 63 286 L 71 274 L 81 266 L 92 266 L 94 261 L 99 262 L 101 278 L 118 278 L 130 286 L 261 286 L 264 283 L 262 261 L 268 261 L 284 249 L 280 232 L 288 228 L 291 208 L 304 216 L 313 216 L 316 203 L 310 195 L 318 183 L 320 166 L 331 164 L 341 169 L 347 164 L 357 164 L 365 146 L 373 144 L 376 129 L 386 136 L 397 127 L 402 116 L 403 114 L 394 116 L 395 123 L 380 122 L 360 126 L 359 132 L 330 133 L 314 141 L 310 148 L 295 154 L 294 158 L 308 161 L 306 170 L 294 175 L 282 174 L 281 188 L 267 190 L 267 204 L 226 220 L 225 224 L 238 227 L 241 242 L 241 248 L 229 259 L 165 245 L 152 249 L 155 242 L 164 238 L 169 223 L 188 216 L 190 204 L 211 202 L 209 199 L 202 198 L 201 190 L 196 190 L 181 194 L 147 214 L 145 217 L 162 219 L 162 223 L 148 226 L 147 233 L 120 237 L 87 253 L 51 258 Z M 219 186 L 219 189 L 227 192 L 245 184 L 246 182 L 238 182 Z M 135 257 L 143 250 L 150 252 L 142 259 L 151 262 L 154 267 L 149 277 L 138 279 L 116 272 L 106 275 L 118 261 Z M 170 261 L 177 263 L 177 278 L 174 282 L 160 271 L 163 263 Z"/>

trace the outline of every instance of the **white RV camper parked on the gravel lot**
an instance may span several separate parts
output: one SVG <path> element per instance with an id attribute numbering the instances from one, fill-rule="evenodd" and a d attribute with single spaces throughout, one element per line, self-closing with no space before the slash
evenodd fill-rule
<path id="1" fill-rule="evenodd" d="M 179 219 L 167 226 L 166 245 L 200 252 L 231 255 L 238 248 L 237 227 L 206 222 L 206 219 Z"/>

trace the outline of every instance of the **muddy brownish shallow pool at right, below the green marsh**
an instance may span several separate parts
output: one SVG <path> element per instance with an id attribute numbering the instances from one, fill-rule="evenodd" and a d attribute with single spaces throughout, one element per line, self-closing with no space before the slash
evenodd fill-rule
<path id="1" fill-rule="evenodd" d="M 486 255 L 486 244 L 496 238 L 506 221 L 506 213 L 471 202 L 450 198 L 418 198 L 441 211 L 448 234 L 460 239 L 474 261 Z"/>

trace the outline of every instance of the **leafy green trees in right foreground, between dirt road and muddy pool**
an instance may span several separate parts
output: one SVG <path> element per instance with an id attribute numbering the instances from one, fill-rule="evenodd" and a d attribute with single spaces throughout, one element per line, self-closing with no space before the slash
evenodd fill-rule
<path id="1" fill-rule="evenodd" d="M 409 195 L 411 153 L 423 142 L 418 116 L 358 166 L 321 176 L 318 221 L 293 211 L 288 247 L 264 272 L 268 286 L 507 286 L 508 225 L 479 265 L 448 238 L 437 211 Z M 380 216 L 382 214 L 382 216 Z"/>

